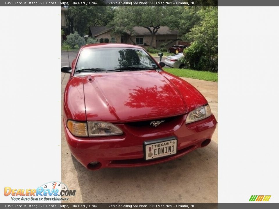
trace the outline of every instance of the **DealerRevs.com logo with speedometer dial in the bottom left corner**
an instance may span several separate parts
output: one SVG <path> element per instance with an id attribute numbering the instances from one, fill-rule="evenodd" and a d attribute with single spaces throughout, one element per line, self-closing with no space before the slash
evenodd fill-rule
<path id="1" fill-rule="evenodd" d="M 75 194 L 76 190 L 69 190 L 65 184 L 58 181 L 43 184 L 36 189 L 4 188 L 4 195 L 12 196 L 11 199 L 14 201 L 67 201 L 68 196 L 74 196 Z"/>

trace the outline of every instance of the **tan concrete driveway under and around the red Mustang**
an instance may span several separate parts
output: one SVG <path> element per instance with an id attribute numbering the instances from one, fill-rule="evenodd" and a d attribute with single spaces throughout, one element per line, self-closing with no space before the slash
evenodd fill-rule
<path id="1" fill-rule="evenodd" d="M 66 65 L 66 58 L 62 54 L 61 65 Z M 61 73 L 61 103 L 68 78 L 69 75 Z M 218 83 L 183 79 L 203 93 L 218 121 Z M 61 126 L 61 180 L 69 189 L 76 190 L 76 195 L 67 202 L 216 203 L 217 133 L 218 126 L 207 147 L 174 161 L 147 167 L 90 171 L 71 156 Z"/>

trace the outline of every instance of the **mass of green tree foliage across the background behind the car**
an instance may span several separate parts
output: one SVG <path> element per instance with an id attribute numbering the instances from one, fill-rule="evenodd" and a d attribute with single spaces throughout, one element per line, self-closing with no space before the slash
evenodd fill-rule
<path id="1" fill-rule="evenodd" d="M 203 1 L 206 5 L 216 0 Z M 151 41 L 147 43 L 150 46 L 153 46 L 154 35 L 158 29 L 168 26 L 179 32 L 178 39 L 191 42 L 191 46 L 184 50 L 187 68 L 218 71 L 217 7 L 70 6 L 68 20 L 70 32 L 77 31 L 81 36 L 88 34 L 90 26 L 107 26 L 113 28 L 115 34 L 131 35 L 135 35 L 135 26 L 144 27 L 151 35 Z"/>

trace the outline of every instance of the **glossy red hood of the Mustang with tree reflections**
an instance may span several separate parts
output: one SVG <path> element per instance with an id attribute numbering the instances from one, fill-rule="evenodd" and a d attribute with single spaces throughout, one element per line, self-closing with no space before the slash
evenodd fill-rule
<path id="1" fill-rule="evenodd" d="M 87 120 L 132 122 L 185 114 L 189 111 L 185 98 L 188 88 L 174 82 L 177 79 L 170 74 L 153 70 L 86 75 L 83 86 Z M 189 91 L 186 96 L 190 94 L 194 95 Z"/>

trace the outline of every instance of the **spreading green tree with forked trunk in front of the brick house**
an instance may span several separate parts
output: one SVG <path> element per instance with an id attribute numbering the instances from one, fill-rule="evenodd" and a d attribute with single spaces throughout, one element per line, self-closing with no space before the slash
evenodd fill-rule
<path id="1" fill-rule="evenodd" d="M 115 9 L 115 16 L 108 25 L 115 33 L 134 34 L 133 27 L 146 28 L 151 35 L 150 46 L 153 44 L 154 35 L 160 26 L 167 25 L 169 14 L 168 7 L 118 7 Z"/>

